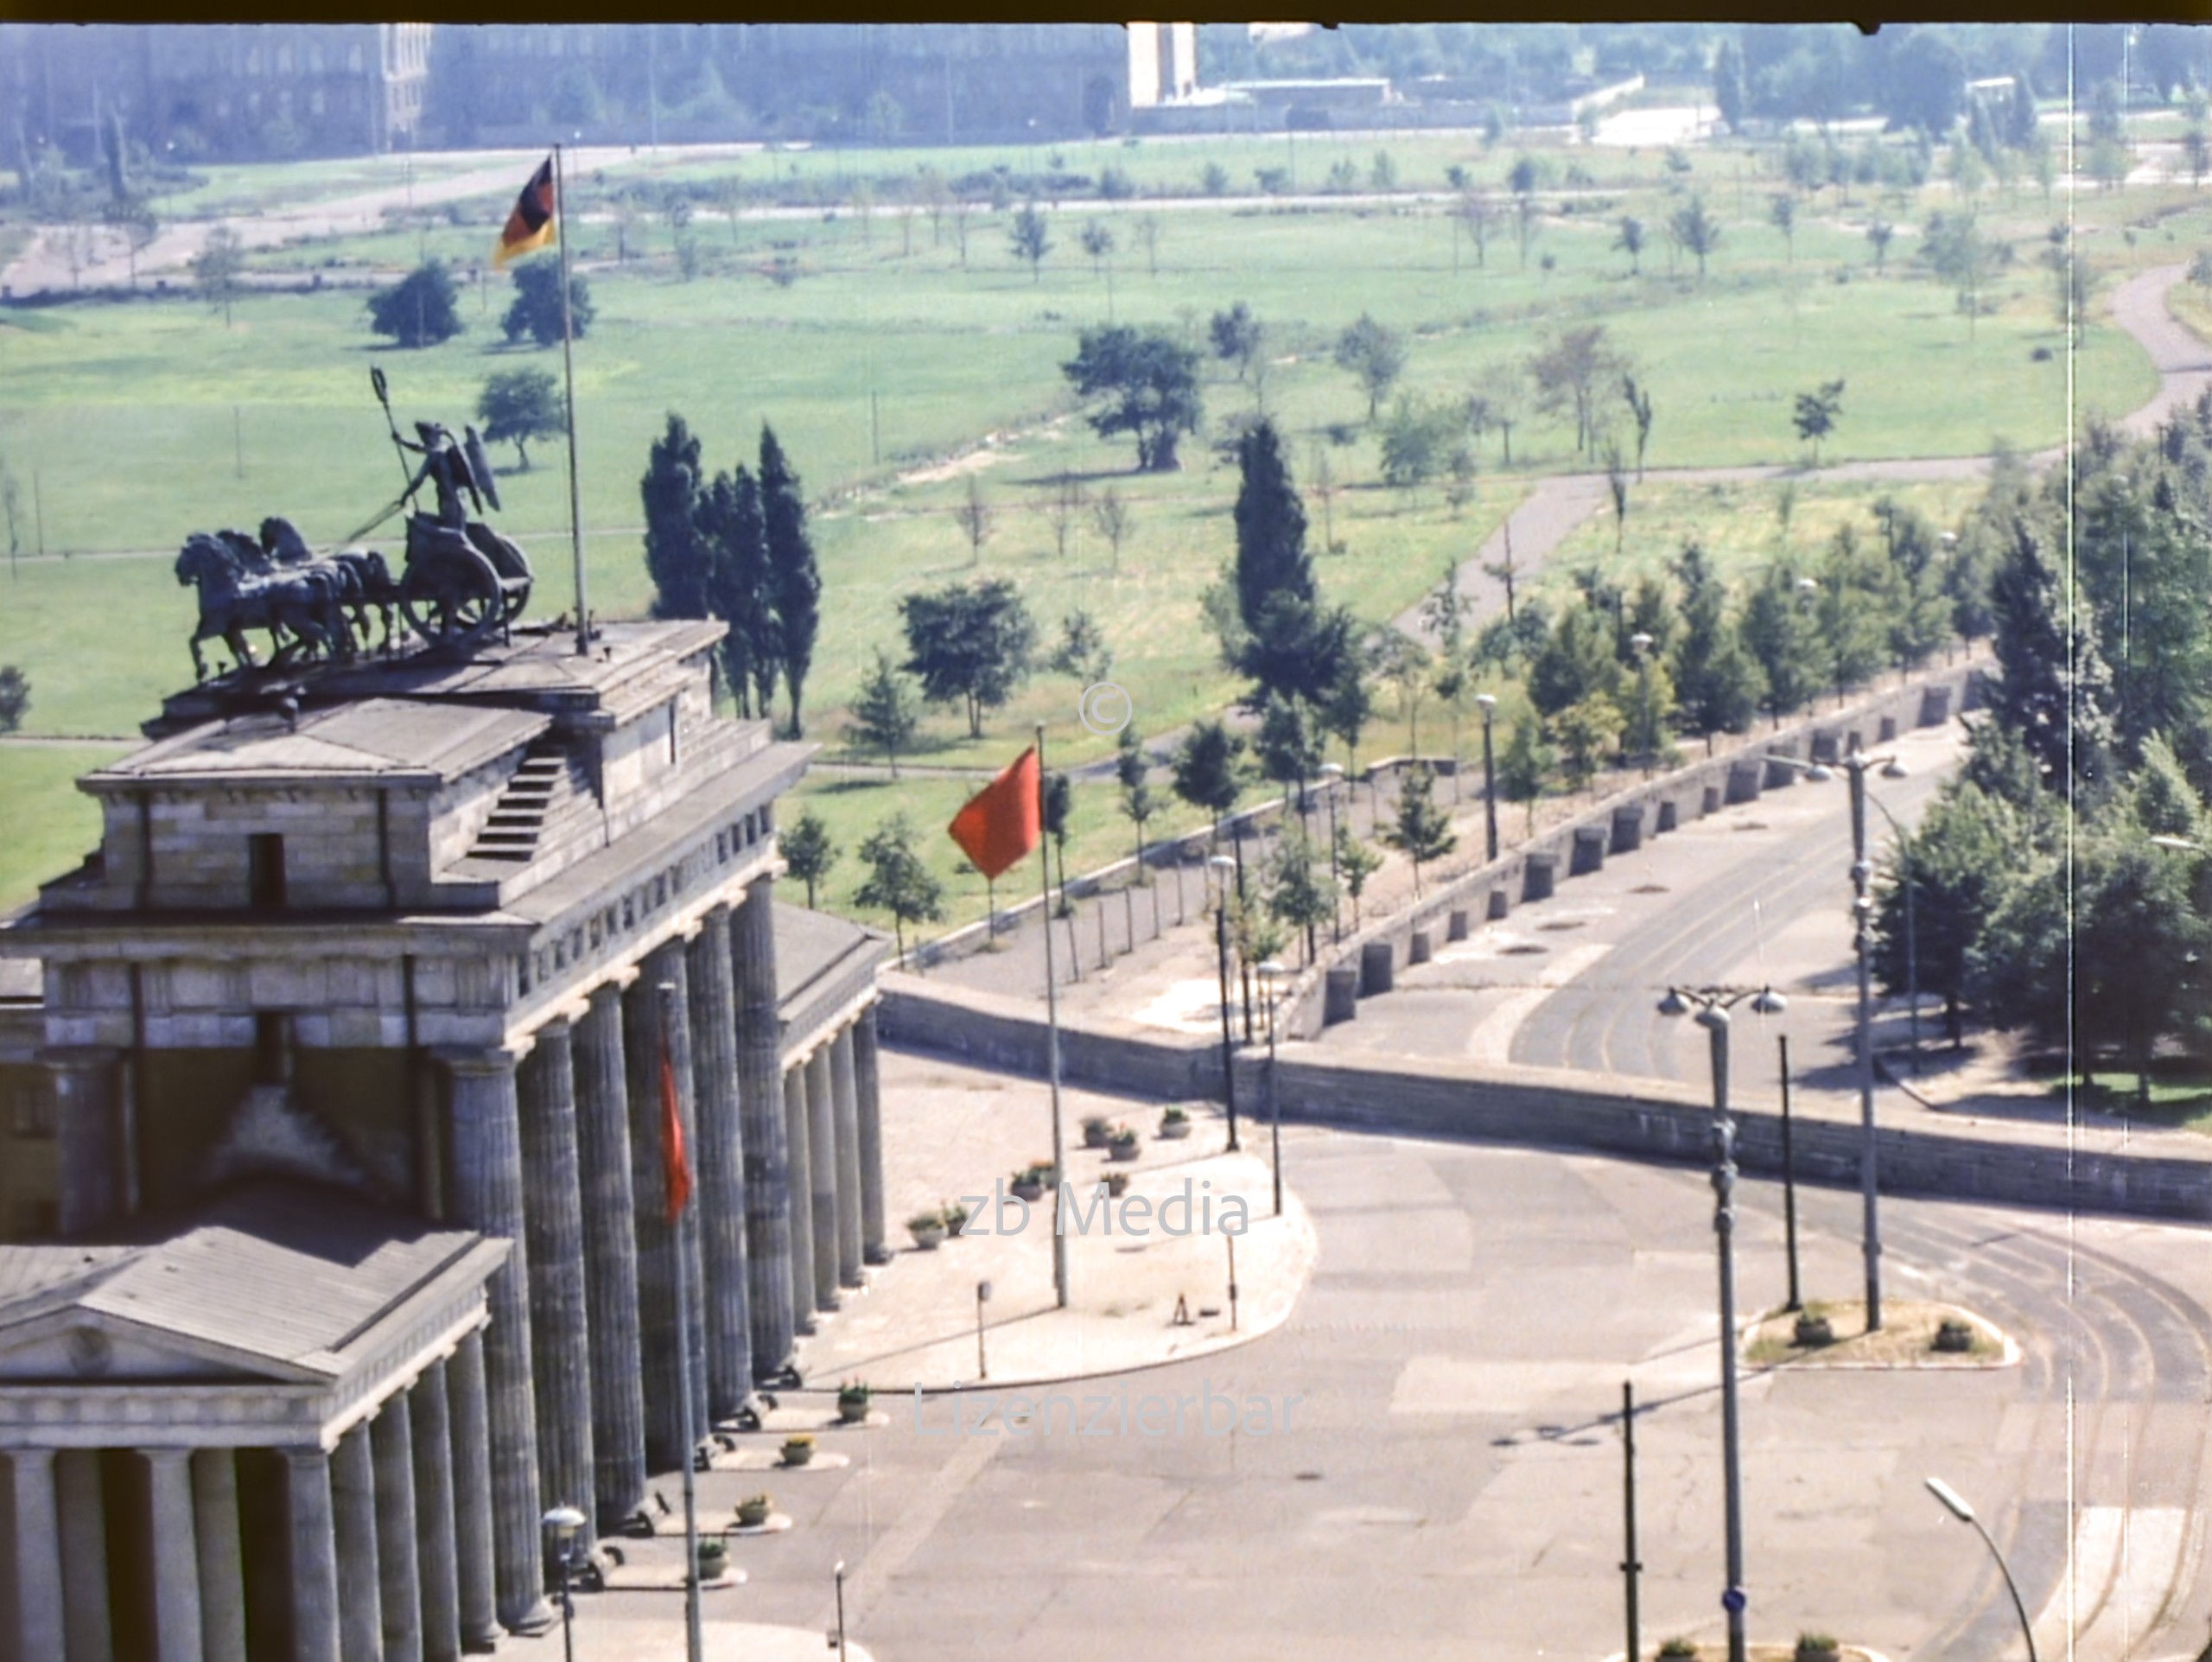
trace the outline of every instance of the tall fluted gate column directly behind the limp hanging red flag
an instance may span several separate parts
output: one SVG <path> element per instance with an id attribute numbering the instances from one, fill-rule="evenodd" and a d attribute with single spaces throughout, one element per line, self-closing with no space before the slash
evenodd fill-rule
<path id="1" fill-rule="evenodd" d="M 684 1126 L 684 1149 L 697 1171 L 699 1144 L 692 1113 L 690 1020 L 684 943 L 668 941 L 646 956 L 644 974 L 622 996 L 624 1049 L 630 1062 L 630 1186 L 637 1191 L 637 1326 L 644 1346 L 646 1383 L 646 1465 L 655 1472 L 679 1469 L 690 1450 L 706 1436 L 706 1359 L 699 1354 L 699 1323 L 688 1321 L 688 1334 L 677 1328 L 677 1250 L 697 1250 L 697 1202 L 684 1211 L 684 1228 L 668 1226 L 666 1166 L 661 1164 L 661 1016 L 659 987 L 677 989 L 668 1018 L 668 1071 L 675 1078 L 677 1120 Z M 690 1303 L 699 1310 L 697 1259 L 690 1270 Z M 677 1368 L 690 1339 L 695 1423 L 681 1423 Z"/>

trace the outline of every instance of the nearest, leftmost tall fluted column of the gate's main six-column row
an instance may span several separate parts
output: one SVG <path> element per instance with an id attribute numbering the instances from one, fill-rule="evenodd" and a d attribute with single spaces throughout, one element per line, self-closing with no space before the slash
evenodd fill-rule
<path id="1" fill-rule="evenodd" d="M 484 1401 L 491 1410 L 491 1547 L 498 1565 L 500 1622 L 513 1633 L 544 1633 L 538 1518 L 538 1421 L 531 1383 L 529 1246 L 522 1222 L 522 1126 L 515 1058 L 471 1051 L 447 1060 L 451 1076 L 449 1211 L 456 1224 L 511 1242 L 507 1264 L 484 1284 Z"/>

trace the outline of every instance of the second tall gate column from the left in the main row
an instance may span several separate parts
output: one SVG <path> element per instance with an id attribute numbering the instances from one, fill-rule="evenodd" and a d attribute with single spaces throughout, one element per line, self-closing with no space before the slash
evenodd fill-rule
<path id="1" fill-rule="evenodd" d="M 591 1514 L 591 1332 L 584 1317 L 584 1191 L 577 1175 L 568 1022 L 549 1020 L 518 1071 L 531 1237 L 531 1381 L 538 1481 L 549 1507 Z M 591 1516 L 584 1540 L 591 1540 Z"/>

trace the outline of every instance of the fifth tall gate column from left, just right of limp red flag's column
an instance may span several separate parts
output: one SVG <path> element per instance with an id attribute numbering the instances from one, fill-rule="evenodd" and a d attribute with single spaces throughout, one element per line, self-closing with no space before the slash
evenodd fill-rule
<path id="1" fill-rule="evenodd" d="M 745 1323 L 745 1138 L 737 1111 L 737 985 L 730 907 L 708 907 L 686 949 L 692 1093 L 699 1102 L 699 1257 L 706 1310 L 708 1419 L 728 1419 L 752 1394 Z"/>

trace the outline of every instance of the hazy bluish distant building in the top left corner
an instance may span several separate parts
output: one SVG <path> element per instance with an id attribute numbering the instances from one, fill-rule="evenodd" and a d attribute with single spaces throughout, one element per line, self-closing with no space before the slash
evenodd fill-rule
<path id="1" fill-rule="evenodd" d="M 429 42 L 427 22 L 11 22 L 0 24 L 0 108 L 24 142 L 80 166 L 115 117 L 133 142 L 184 162 L 394 150 L 422 120 Z"/>

